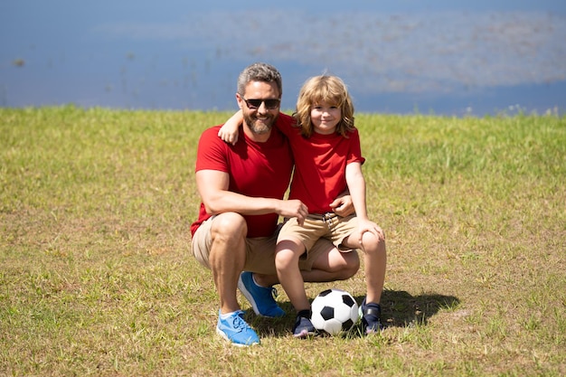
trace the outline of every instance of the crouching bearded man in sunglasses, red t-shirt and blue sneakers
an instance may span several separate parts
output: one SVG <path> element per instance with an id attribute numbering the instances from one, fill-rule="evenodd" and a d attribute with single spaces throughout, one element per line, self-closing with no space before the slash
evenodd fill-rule
<path id="1" fill-rule="evenodd" d="M 231 344 L 259 344 L 243 319 L 236 288 L 260 316 L 285 316 L 272 296 L 278 284 L 275 243 L 278 217 L 302 223 L 307 206 L 283 200 L 293 170 L 288 140 L 273 127 L 279 118 L 281 76 L 271 65 L 255 63 L 241 72 L 236 99 L 243 114 L 241 137 L 233 145 L 218 137 L 221 126 L 203 132 L 196 159 L 196 184 L 202 198 L 193 222 L 193 255 L 212 270 L 220 297 L 216 332 Z M 286 120 L 287 119 L 287 120 Z M 340 215 L 353 211 L 349 197 L 332 208 Z M 360 267 L 357 253 L 342 253 L 319 240 L 300 268 L 304 281 L 351 278 Z M 243 272 L 246 271 L 246 272 Z"/>

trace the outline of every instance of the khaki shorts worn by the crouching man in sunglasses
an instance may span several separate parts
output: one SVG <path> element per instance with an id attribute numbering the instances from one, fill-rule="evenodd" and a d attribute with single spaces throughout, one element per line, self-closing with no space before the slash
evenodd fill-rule
<path id="1" fill-rule="evenodd" d="M 191 249 L 193 256 L 199 263 L 207 269 L 211 268 L 209 262 L 209 254 L 212 246 L 212 222 L 216 216 L 204 221 L 201 226 L 194 232 L 193 240 L 191 240 Z M 259 274 L 275 275 L 275 244 L 278 238 L 278 232 L 281 224 L 271 237 L 257 237 L 246 239 L 246 263 L 244 270 L 257 272 Z M 315 260 L 322 254 L 334 249 L 334 245 L 329 240 L 321 239 L 301 256 L 298 267 L 301 270 L 310 271 L 313 268 Z"/>

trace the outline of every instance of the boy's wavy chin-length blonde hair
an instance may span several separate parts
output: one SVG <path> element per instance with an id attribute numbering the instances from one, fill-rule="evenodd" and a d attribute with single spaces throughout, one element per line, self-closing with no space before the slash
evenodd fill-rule
<path id="1" fill-rule="evenodd" d="M 298 93 L 297 108 L 293 117 L 304 137 L 310 137 L 314 127 L 310 119 L 310 110 L 323 102 L 342 110 L 342 119 L 336 126 L 336 133 L 347 137 L 354 130 L 354 104 L 344 81 L 336 76 L 315 76 L 303 84 Z"/>

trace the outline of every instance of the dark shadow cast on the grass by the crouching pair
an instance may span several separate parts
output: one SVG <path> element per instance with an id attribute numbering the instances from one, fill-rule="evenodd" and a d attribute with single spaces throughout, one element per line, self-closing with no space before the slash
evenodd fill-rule
<path id="1" fill-rule="evenodd" d="M 354 297 L 359 305 L 363 296 Z M 384 290 L 382 294 L 382 323 L 387 327 L 408 327 L 427 325 L 429 318 L 439 310 L 454 310 L 458 307 L 458 297 L 436 293 L 412 296 L 406 291 Z M 256 316 L 252 310 L 246 312 L 246 321 L 253 325 L 259 336 L 290 336 L 295 323 L 295 309 L 290 302 L 279 302 L 286 316 L 265 318 Z"/>

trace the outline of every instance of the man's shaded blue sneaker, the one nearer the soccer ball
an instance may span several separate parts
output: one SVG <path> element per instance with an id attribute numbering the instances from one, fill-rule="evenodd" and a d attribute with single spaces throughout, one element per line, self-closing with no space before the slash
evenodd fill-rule
<path id="1" fill-rule="evenodd" d="M 275 297 L 277 297 L 277 290 L 274 287 L 259 287 L 253 281 L 253 274 L 244 271 L 240 274 L 238 279 L 238 287 L 241 293 L 250 301 L 253 311 L 258 316 L 279 317 L 285 316 L 285 311 L 281 309 Z"/>

